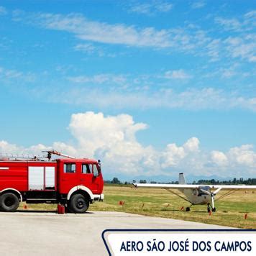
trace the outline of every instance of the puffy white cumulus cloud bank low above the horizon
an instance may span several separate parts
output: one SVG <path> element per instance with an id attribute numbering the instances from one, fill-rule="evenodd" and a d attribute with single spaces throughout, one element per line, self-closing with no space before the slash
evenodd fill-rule
<path id="1" fill-rule="evenodd" d="M 172 175 L 183 171 L 187 175 L 218 175 L 219 177 L 252 177 L 255 175 L 256 152 L 252 145 L 232 147 L 227 152 L 202 151 L 197 137 L 183 145 L 168 143 L 163 150 L 142 145 L 137 132 L 147 124 L 134 122 L 129 114 L 104 116 L 88 111 L 73 114 L 68 129 L 73 143 L 53 142 L 52 145 L 22 147 L 0 141 L 0 154 L 42 155 L 42 150 L 55 149 L 76 157 L 101 159 L 106 176 Z"/>

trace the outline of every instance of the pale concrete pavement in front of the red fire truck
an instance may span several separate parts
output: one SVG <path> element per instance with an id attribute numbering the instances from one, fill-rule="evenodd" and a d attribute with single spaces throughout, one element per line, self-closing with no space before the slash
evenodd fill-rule
<path id="1" fill-rule="evenodd" d="M 122 212 L 0 212 L 2 255 L 107 255 L 104 229 L 221 229 L 217 225 Z"/>

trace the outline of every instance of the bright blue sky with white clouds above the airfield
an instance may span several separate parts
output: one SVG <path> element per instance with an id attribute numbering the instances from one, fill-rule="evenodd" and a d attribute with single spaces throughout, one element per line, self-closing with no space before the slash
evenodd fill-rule
<path id="1" fill-rule="evenodd" d="M 255 4 L 0 1 L 1 152 L 101 157 L 107 177 L 252 177 Z"/>

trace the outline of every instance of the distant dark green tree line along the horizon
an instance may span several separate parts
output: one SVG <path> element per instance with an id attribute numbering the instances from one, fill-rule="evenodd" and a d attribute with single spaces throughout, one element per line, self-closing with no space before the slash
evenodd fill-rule
<path id="1" fill-rule="evenodd" d="M 105 184 L 124 184 L 128 185 L 131 184 L 129 181 L 125 181 L 122 183 L 118 178 L 114 177 L 112 180 L 104 180 Z M 132 183 L 147 183 L 147 180 L 132 180 Z M 157 181 L 150 181 L 150 184 L 157 184 Z M 165 184 L 178 184 L 178 181 L 171 181 Z M 214 178 L 211 180 L 196 180 L 193 181 L 193 184 L 245 184 L 245 185 L 256 185 L 256 178 L 248 178 L 248 179 L 243 179 L 243 178 L 233 178 L 233 180 L 215 180 Z"/>

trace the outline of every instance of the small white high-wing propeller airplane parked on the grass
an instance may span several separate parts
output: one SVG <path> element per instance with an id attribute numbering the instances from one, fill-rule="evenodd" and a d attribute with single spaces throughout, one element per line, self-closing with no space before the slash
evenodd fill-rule
<path id="1" fill-rule="evenodd" d="M 133 186 L 136 188 L 164 188 L 167 191 L 175 194 L 175 196 L 179 196 L 183 198 L 183 200 L 191 203 L 191 206 L 197 204 L 207 204 L 207 211 L 216 211 L 214 206 L 214 197 L 219 191 L 227 191 L 224 195 L 216 198 L 219 200 L 224 198 L 224 196 L 228 196 L 234 191 L 239 189 L 256 189 L 256 186 L 246 186 L 246 185 L 188 185 L 186 183 L 186 179 L 183 173 L 179 174 L 178 184 L 148 184 L 148 183 L 133 183 Z M 180 196 L 180 194 L 173 191 L 173 189 L 178 189 L 180 192 L 184 194 L 184 196 Z M 190 211 L 190 208 L 186 207 L 186 211 Z"/>

